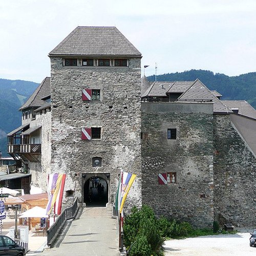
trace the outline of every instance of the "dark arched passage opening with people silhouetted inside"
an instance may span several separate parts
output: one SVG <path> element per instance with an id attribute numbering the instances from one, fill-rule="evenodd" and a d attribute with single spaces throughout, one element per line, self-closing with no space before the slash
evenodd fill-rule
<path id="1" fill-rule="evenodd" d="M 94 176 L 84 183 L 83 202 L 89 207 L 105 207 L 109 202 L 109 186 L 101 177 Z"/>

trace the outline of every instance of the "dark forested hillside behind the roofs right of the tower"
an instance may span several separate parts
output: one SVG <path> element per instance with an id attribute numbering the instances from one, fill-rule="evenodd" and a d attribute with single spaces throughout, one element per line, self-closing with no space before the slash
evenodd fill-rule
<path id="1" fill-rule="evenodd" d="M 155 81 L 155 76 L 148 76 Z M 246 100 L 256 109 L 256 72 L 240 76 L 226 76 L 207 70 L 189 70 L 181 73 L 168 73 L 157 76 L 157 81 L 201 80 L 210 90 L 216 90 L 226 100 Z"/>

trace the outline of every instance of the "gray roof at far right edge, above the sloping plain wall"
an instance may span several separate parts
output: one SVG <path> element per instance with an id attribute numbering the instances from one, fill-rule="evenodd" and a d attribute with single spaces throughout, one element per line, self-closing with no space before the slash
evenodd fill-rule
<path id="1" fill-rule="evenodd" d="M 222 100 L 229 109 L 238 109 L 238 114 L 256 119 L 256 110 L 245 100 Z"/>

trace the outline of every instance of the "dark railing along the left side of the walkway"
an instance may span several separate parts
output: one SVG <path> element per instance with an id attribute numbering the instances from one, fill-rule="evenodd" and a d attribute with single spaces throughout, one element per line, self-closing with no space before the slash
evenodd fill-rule
<path id="1" fill-rule="evenodd" d="M 78 210 L 78 199 L 76 198 L 73 205 L 61 212 L 56 221 L 47 230 L 47 245 L 52 246 L 55 242 L 59 231 L 66 223 L 67 220 L 73 219 L 76 216 Z"/>

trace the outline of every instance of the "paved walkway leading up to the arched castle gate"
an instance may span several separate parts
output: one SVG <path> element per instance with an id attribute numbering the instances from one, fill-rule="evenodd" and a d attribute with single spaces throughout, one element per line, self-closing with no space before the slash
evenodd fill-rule
<path id="1" fill-rule="evenodd" d="M 68 222 L 55 246 L 35 255 L 115 256 L 118 253 L 118 231 L 112 209 L 83 208 L 79 219 Z"/>

